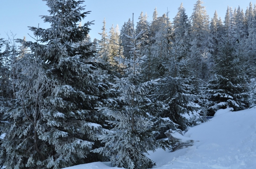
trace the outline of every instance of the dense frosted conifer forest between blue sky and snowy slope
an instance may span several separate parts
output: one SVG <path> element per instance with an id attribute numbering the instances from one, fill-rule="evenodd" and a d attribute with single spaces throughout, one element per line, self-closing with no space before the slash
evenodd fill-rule
<path id="1" fill-rule="evenodd" d="M 82 0 L 45 0 L 35 42 L 0 39 L 0 165 L 59 169 L 94 161 L 147 169 L 149 150 L 176 144 L 218 109 L 256 104 L 256 6 L 211 20 L 198 0 L 151 22 L 141 12 L 90 39 Z M 80 24 L 79 24 L 80 23 Z M 19 45 L 16 45 L 19 44 Z"/>

